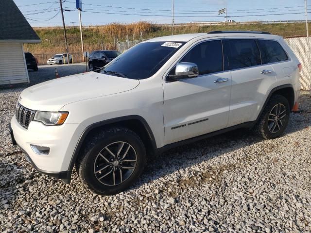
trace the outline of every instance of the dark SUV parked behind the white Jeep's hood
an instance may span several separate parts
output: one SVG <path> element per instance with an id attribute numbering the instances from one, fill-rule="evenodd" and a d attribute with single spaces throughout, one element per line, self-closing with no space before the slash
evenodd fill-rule
<path id="1" fill-rule="evenodd" d="M 121 52 L 114 50 L 95 50 L 89 55 L 88 67 L 90 71 L 95 71 L 104 67 L 106 64 L 111 62 Z"/>

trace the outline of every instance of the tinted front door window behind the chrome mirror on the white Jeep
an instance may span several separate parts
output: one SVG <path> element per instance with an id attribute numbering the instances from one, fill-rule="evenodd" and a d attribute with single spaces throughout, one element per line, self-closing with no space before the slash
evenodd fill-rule
<path id="1" fill-rule="evenodd" d="M 223 71 L 223 48 L 221 40 L 211 40 L 196 45 L 180 62 L 192 62 L 199 74 Z"/>

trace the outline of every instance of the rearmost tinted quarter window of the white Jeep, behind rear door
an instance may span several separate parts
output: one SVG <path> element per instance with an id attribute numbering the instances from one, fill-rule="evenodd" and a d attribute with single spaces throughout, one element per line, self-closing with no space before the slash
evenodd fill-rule
<path id="1" fill-rule="evenodd" d="M 262 64 L 282 62 L 288 60 L 288 57 L 280 46 L 280 44 L 273 40 L 258 40 Z"/>

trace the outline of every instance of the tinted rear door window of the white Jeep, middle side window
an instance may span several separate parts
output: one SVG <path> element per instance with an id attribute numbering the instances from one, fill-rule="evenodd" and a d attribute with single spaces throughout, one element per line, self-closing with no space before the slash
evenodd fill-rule
<path id="1" fill-rule="evenodd" d="M 228 63 L 230 69 L 261 65 L 260 53 L 255 40 L 228 39 Z"/>

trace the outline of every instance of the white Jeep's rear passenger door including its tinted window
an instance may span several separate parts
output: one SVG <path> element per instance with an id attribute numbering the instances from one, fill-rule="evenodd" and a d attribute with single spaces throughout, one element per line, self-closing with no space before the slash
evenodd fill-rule
<path id="1" fill-rule="evenodd" d="M 261 65 L 257 39 L 226 38 L 224 44 L 232 78 L 230 127 L 256 120 L 269 88 L 276 83 L 276 73 L 271 65 Z"/>

